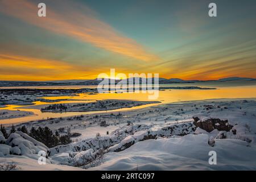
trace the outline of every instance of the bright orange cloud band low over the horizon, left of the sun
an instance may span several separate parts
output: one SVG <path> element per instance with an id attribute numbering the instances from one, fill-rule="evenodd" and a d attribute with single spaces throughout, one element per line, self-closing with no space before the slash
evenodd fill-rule
<path id="1" fill-rule="evenodd" d="M 85 79 L 97 77 L 92 68 L 72 65 L 57 60 L 36 59 L 34 57 L 1 55 L 0 80 L 59 80 Z"/>

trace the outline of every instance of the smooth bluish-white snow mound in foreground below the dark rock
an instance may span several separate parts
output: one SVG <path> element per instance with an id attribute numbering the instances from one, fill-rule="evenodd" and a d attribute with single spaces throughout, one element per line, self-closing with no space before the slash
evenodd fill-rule
<path id="1" fill-rule="evenodd" d="M 237 139 L 216 139 L 207 134 L 138 142 L 121 152 L 105 155 L 104 163 L 91 170 L 255 170 L 256 148 Z M 216 151 L 217 165 L 210 165 L 209 151 Z"/>

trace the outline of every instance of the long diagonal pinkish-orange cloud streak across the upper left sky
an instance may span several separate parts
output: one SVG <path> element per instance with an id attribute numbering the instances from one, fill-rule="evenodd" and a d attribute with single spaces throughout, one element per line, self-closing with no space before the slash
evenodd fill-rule
<path id="1" fill-rule="evenodd" d="M 148 53 L 135 40 L 122 36 L 109 24 L 98 20 L 93 11 L 87 7 L 83 8 L 67 3 L 67 1 L 60 1 L 58 6 L 61 6 L 64 12 L 53 11 L 51 7 L 47 6 L 47 16 L 40 18 L 37 15 L 37 5 L 34 3 L 27 0 L 3 0 L 1 1 L 0 12 L 56 34 L 71 36 L 110 52 L 142 61 L 159 60 L 158 56 Z"/>

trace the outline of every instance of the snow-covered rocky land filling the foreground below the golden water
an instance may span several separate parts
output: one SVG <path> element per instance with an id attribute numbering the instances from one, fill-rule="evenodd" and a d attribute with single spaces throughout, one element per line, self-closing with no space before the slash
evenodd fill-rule
<path id="1" fill-rule="evenodd" d="M 14 162 L 21 170 L 255 170 L 255 115 L 255 99 L 224 99 L 24 123 L 82 135 L 47 148 L 20 131 L 13 139 L 0 133 L 0 163 Z M 47 152 L 46 165 L 38 164 L 39 148 Z M 208 162 L 210 151 L 217 154 L 216 165 Z"/>

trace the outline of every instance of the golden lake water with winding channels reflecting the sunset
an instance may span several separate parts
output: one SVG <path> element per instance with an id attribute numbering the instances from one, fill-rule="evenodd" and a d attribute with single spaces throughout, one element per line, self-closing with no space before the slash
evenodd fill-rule
<path id="1" fill-rule="evenodd" d="M 155 101 L 160 101 L 162 104 L 178 102 L 178 101 L 196 101 L 196 100 L 207 100 L 207 99 L 216 99 L 216 98 L 256 98 L 256 81 L 250 82 L 200 82 L 193 84 L 159 84 L 159 86 L 200 86 L 208 88 L 216 88 L 214 90 L 160 90 L 159 97 Z M 15 88 L 15 87 L 11 87 Z M 20 87 L 19 87 L 20 88 Z M 34 88 L 34 89 L 45 89 L 45 88 L 97 88 L 97 85 L 86 85 L 86 86 L 27 86 L 22 88 Z M 16 88 L 15 88 L 16 89 Z M 67 112 L 67 113 L 42 113 L 40 109 L 35 109 L 32 107 L 40 106 L 44 104 L 65 104 L 65 103 L 74 103 L 74 102 L 92 102 L 96 100 L 136 100 L 136 101 L 147 101 L 148 94 L 144 93 L 100 93 L 100 94 L 87 94 L 80 93 L 77 96 L 59 96 L 59 97 L 43 97 L 48 100 L 57 100 L 57 99 L 76 99 L 76 100 L 88 100 L 88 101 L 60 101 L 60 102 L 34 102 L 34 105 L 26 106 L 26 109 L 22 108 L 23 106 L 17 105 L 7 105 L 7 107 L 1 109 L 17 110 L 20 111 L 32 111 L 34 115 L 30 115 L 22 118 L 13 118 L 13 119 L 1 119 L 0 123 L 10 124 L 10 123 L 22 123 L 35 121 L 39 119 L 47 118 L 57 118 L 57 117 L 69 117 L 73 115 L 81 114 L 94 114 L 94 113 L 106 113 L 113 111 L 127 111 L 142 109 L 144 107 L 154 106 L 158 104 L 148 104 L 130 108 L 107 110 L 107 111 L 86 111 L 86 112 Z"/>

